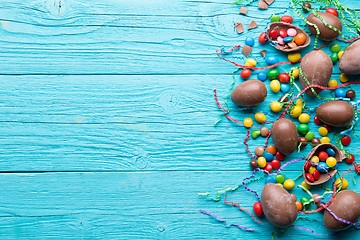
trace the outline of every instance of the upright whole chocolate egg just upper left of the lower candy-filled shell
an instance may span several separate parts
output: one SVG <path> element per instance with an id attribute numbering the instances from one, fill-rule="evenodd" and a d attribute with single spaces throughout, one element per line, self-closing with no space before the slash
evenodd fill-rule
<path id="1" fill-rule="evenodd" d="M 286 118 L 276 120 L 271 127 L 271 138 L 279 152 L 291 154 L 298 143 L 298 132 L 295 123 Z"/>

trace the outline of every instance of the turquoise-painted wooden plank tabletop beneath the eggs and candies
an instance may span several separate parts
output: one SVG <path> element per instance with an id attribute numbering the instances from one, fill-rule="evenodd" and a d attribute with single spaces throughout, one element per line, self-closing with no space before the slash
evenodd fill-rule
<path id="1" fill-rule="evenodd" d="M 221 111 L 213 90 L 224 104 L 237 69 L 215 51 L 243 45 L 264 31 L 272 13 L 289 7 L 289 1 L 276 0 L 260 12 L 253 3 L 242 16 L 231 2 L 0 2 L 1 239 L 270 239 L 271 226 L 198 196 L 251 175 L 242 143 L 246 130 L 225 119 L 214 127 Z M 356 0 L 344 2 L 360 7 Z M 287 14 L 300 23 L 294 12 Z M 252 19 L 259 27 L 248 31 Z M 234 29 L 238 21 L 246 29 L 241 35 Z M 252 57 L 261 59 L 261 49 L 286 59 L 258 43 Z M 240 51 L 233 57 L 246 59 Z M 252 111 L 231 103 L 231 116 L 242 121 L 264 111 L 275 119 L 269 104 L 279 96 L 269 91 Z M 249 140 L 251 151 L 261 141 Z M 355 136 L 348 149 L 359 157 Z M 301 165 L 286 167 L 286 176 L 295 178 Z M 351 174 L 350 188 L 359 192 Z M 251 183 L 257 191 L 262 186 Z M 243 188 L 228 197 L 247 209 L 256 201 Z M 226 228 L 199 209 L 259 231 Z M 322 214 L 311 217 L 318 220 L 299 226 L 327 234 Z M 336 238 L 359 236 L 347 230 Z M 329 238 L 295 228 L 276 235 L 309 237 Z"/>

